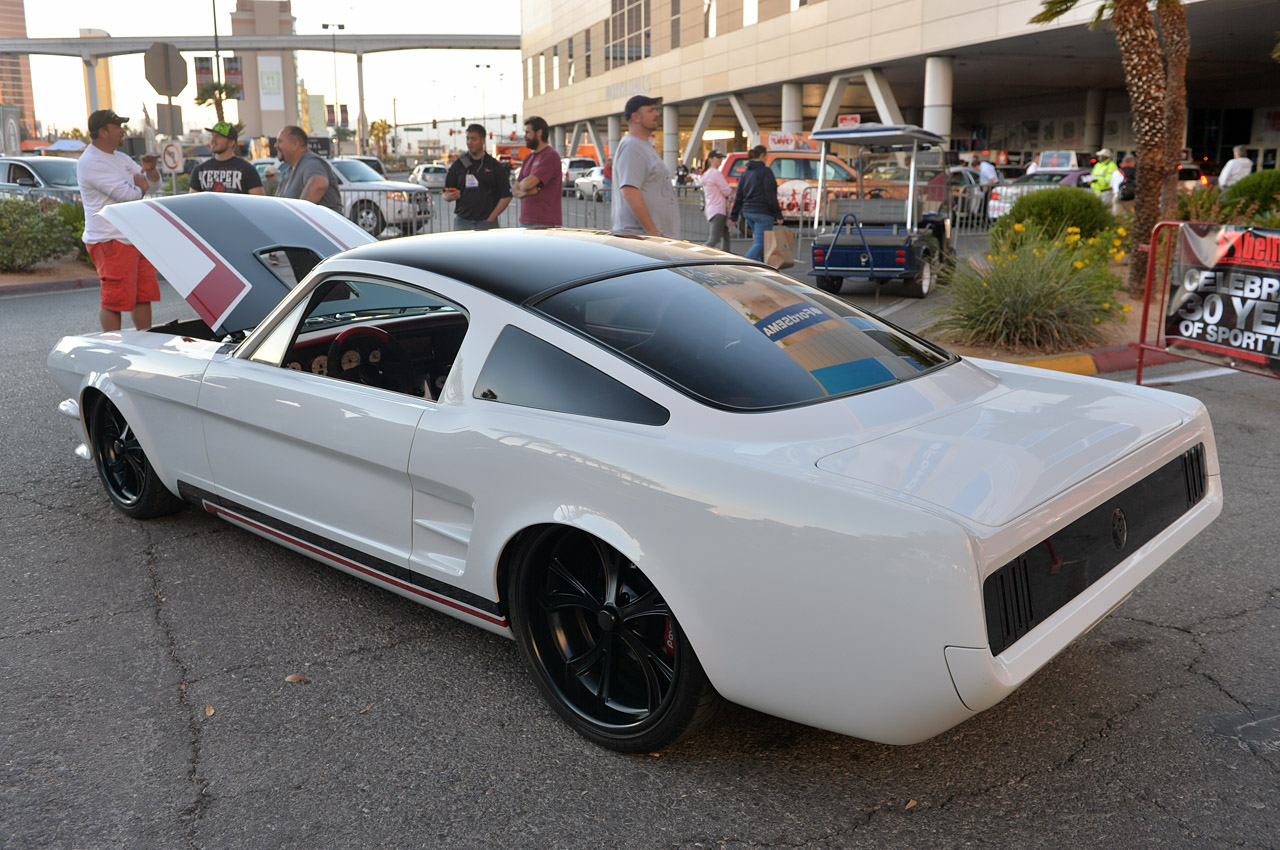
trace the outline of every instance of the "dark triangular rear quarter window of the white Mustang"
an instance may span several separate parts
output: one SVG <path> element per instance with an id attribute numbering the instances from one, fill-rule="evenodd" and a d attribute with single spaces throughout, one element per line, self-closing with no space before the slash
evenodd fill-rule
<path id="1" fill-rule="evenodd" d="M 489 352 L 474 394 L 503 405 L 637 425 L 664 425 L 671 417 L 666 407 L 511 325 Z"/>

